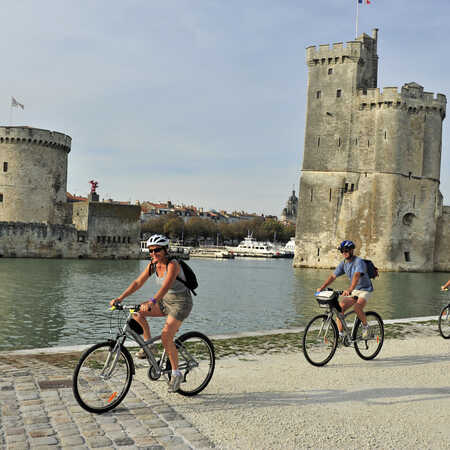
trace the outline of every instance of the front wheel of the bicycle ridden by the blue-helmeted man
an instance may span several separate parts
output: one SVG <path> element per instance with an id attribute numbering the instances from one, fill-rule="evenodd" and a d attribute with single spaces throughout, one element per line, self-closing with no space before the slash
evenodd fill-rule
<path id="1" fill-rule="evenodd" d="M 313 366 L 324 366 L 333 357 L 338 344 L 336 322 L 325 314 L 314 317 L 303 333 L 303 353 Z"/>

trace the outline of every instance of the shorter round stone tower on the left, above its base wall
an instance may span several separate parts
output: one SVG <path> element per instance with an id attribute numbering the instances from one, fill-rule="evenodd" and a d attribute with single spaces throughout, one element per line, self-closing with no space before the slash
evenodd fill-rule
<path id="1" fill-rule="evenodd" d="M 0 222 L 63 224 L 71 138 L 0 127 Z"/>

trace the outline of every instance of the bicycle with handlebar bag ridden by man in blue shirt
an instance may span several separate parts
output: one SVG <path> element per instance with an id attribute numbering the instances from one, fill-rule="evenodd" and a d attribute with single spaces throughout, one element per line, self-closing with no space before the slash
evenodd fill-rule
<path id="1" fill-rule="evenodd" d="M 335 315 L 341 321 L 343 327 L 341 344 L 344 347 L 354 347 L 360 358 L 371 360 L 380 353 L 381 347 L 383 347 L 384 325 L 380 315 L 375 311 L 365 313 L 369 325 L 369 336 L 363 338 L 362 322 L 355 311 L 342 313 L 338 302 L 342 293 L 343 291 L 328 289 L 315 294 L 319 307 L 327 309 L 327 313 L 312 318 L 303 333 L 303 353 L 307 361 L 313 366 L 324 366 L 336 352 L 339 332 L 334 318 Z M 355 319 L 350 329 L 346 318 L 352 314 L 355 315 Z"/>

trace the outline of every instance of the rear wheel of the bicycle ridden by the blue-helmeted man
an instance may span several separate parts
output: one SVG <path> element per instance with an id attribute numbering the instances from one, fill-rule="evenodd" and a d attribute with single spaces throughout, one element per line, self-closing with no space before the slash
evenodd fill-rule
<path id="1" fill-rule="evenodd" d="M 366 312 L 366 318 L 369 325 L 369 337 L 362 337 L 362 322 L 358 318 L 356 319 L 352 339 L 355 341 L 355 351 L 358 356 L 369 360 L 375 358 L 383 347 L 384 325 L 383 319 L 374 311 Z"/>

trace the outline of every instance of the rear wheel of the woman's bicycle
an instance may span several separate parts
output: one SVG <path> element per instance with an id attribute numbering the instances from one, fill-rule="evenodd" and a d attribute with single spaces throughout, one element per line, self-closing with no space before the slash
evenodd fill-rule
<path id="1" fill-rule="evenodd" d="M 190 331 L 175 340 L 178 348 L 178 369 L 183 374 L 178 393 L 185 396 L 203 391 L 211 380 L 216 365 L 212 342 L 198 331 Z M 170 362 L 168 361 L 168 367 Z M 169 375 L 170 376 L 170 375 Z"/>

